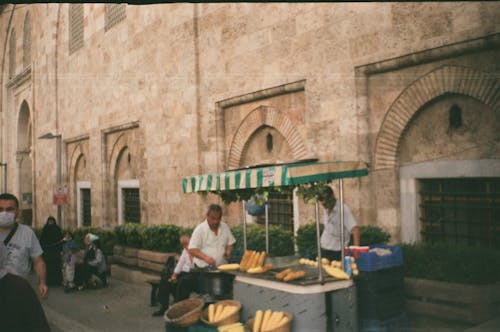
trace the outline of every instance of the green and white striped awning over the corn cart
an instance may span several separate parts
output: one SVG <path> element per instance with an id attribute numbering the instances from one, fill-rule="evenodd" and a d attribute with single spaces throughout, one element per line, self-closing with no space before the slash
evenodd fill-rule
<path id="1" fill-rule="evenodd" d="M 297 162 L 187 176 L 182 179 L 182 189 L 185 193 L 194 193 L 297 186 L 367 174 L 368 165 L 364 162 Z"/>

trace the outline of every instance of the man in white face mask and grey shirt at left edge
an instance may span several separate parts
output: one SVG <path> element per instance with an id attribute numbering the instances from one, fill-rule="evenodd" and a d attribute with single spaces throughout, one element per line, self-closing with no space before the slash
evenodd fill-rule
<path id="1" fill-rule="evenodd" d="M 7 247 L 6 267 L 25 279 L 33 262 L 39 281 L 40 296 L 47 298 L 48 287 L 45 282 L 46 269 L 42 258 L 43 250 L 33 230 L 17 222 L 19 201 L 8 193 L 0 194 L 0 241 Z"/>

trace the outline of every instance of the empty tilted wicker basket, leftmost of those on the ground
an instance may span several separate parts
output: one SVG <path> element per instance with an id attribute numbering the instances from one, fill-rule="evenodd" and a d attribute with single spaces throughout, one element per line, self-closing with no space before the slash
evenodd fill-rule
<path id="1" fill-rule="evenodd" d="M 205 301 L 200 298 L 191 298 L 179 301 L 165 312 L 163 319 L 167 324 L 177 326 L 191 326 L 200 320 L 201 310 Z"/>

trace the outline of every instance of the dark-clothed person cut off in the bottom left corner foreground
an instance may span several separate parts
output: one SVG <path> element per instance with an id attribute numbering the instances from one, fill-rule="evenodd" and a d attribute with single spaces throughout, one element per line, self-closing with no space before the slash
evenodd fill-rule
<path id="1" fill-rule="evenodd" d="M 0 330 L 9 332 L 50 332 L 37 294 L 20 276 L 4 265 L 7 249 L 0 242 Z"/>

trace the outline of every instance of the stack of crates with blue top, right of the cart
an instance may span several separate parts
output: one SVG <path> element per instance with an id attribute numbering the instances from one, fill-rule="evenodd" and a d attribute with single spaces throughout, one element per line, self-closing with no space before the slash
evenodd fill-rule
<path id="1" fill-rule="evenodd" d="M 371 246 L 391 251 L 359 253 L 356 278 L 359 330 L 361 332 L 407 331 L 403 255 L 401 247 Z"/>

